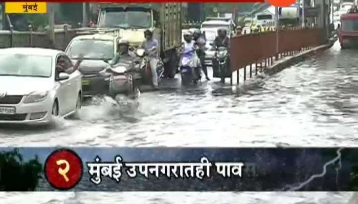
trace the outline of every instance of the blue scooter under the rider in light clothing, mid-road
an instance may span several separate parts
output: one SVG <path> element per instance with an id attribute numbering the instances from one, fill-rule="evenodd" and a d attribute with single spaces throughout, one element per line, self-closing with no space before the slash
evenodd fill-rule
<path id="1" fill-rule="evenodd" d="M 181 60 L 180 60 L 180 73 L 183 84 L 189 84 L 193 82 L 196 84 L 201 77 L 201 63 L 196 54 L 196 49 L 189 50 L 185 52 L 182 48 L 180 50 Z"/>

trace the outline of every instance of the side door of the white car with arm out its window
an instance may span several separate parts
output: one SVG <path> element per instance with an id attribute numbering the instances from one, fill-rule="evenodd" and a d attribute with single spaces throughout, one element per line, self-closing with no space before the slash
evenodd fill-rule
<path id="1" fill-rule="evenodd" d="M 62 58 L 66 62 L 65 72 L 70 74 L 70 78 L 68 79 L 69 92 L 67 93 L 67 100 L 69 112 L 71 112 L 76 110 L 78 94 L 82 88 L 81 73 L 78 70 L 74 69 L 73 63 L 68 56 L 63 55 Z"/>

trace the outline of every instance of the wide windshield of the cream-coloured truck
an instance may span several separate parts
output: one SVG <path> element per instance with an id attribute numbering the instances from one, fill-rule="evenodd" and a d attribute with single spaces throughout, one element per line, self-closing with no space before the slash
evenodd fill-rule
<path id="1" fill-rule="evenodd" d="M 102 11 L 99 21 L 101 28 L 149 28 L 151 13 L 143 10 Z"/>

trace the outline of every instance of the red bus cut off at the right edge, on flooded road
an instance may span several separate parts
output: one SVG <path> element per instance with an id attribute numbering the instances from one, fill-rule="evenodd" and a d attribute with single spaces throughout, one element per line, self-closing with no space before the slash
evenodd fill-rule
<path id="1" fill-rule="evenodd" d="M 342 48 L 358 45 L 358 13 L 347 13 L 341 16 L 338 35 Z"/>

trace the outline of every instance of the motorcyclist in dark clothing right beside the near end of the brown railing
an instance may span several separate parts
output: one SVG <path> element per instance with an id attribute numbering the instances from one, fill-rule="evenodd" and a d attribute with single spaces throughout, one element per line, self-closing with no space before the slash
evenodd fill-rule
<path id="1" fill-rule="evenodd" d="M 227 30 L 218 29 L 217 34 L 218 36 L 215 38 L 213 42 L 213 48 L 217 50 L 217 48 L 219 47 L 226 47 L 228 50 L 230 50 L 230 38 L 227 36 Z M 213 72 L 217 73 L 217 71 L 219 70 L 218 69 L 219 62 L 215 57 L 212 60 L 212 64 L 213 64 Z M 227 66 L 230 67 L 230 58 L 228 58 L 227 60 Z M 214 75 L 218 75 L 218 74 L 214 74 Z"/>

